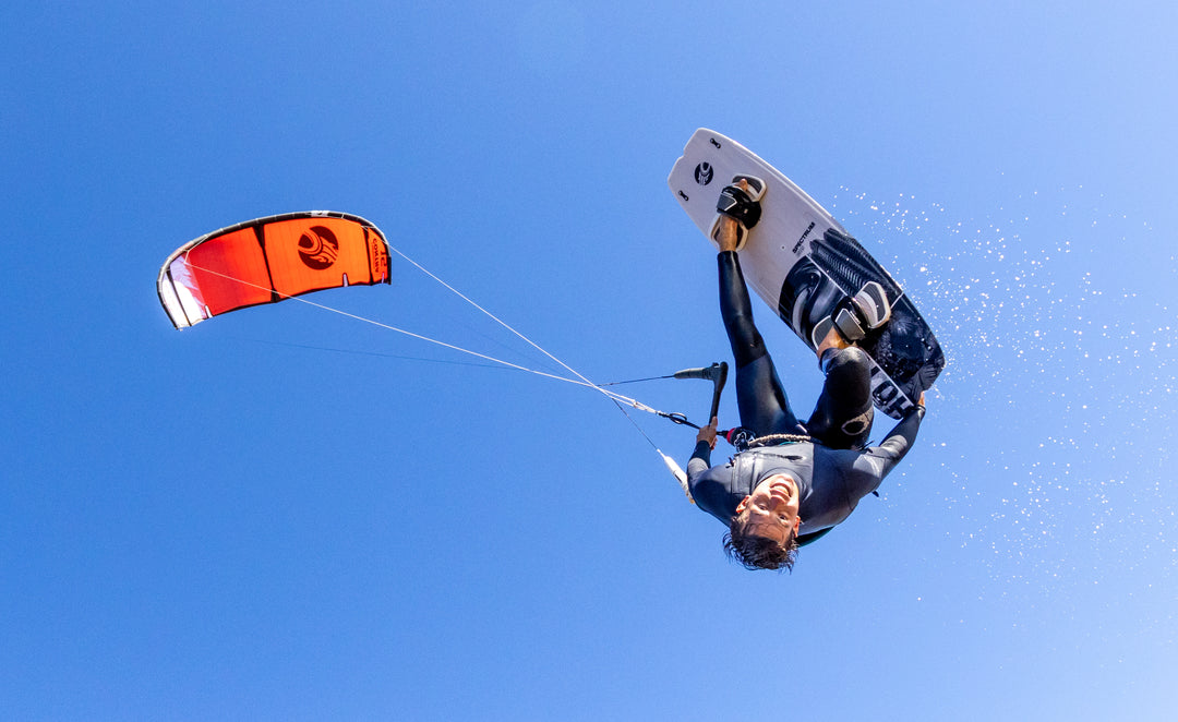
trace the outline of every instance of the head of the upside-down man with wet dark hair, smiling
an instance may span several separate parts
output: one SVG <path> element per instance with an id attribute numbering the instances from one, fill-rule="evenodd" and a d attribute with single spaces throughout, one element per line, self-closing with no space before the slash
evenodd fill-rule
<path id="1" fill-rule="evenodd" d="M 792 569 L 798 556 L 798 483 L 786 473 L 762 479 L 736 506 L 724 552 L 746 569 Z"/>

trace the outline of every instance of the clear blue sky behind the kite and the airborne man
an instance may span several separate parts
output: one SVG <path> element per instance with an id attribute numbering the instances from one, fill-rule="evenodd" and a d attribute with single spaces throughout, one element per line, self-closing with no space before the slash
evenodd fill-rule
<path id="1" fill-rule="evenodd" d="M 1166 718 L 1176 21 L 0 11 L 0 716 Z M 840 218 L 949 356 L 918 448 L 792 576 L 728 564 L 591 391 L 303 304 L 177 332 L 155 299 L 183 243 L 331 208 L 595 380 L 721 360 L 710 246 L 666 188 L 700 126 Z M 404 263 L 313 300 L 544 363 Z M 760 320 L 812 404 L 813 359 Z"/>

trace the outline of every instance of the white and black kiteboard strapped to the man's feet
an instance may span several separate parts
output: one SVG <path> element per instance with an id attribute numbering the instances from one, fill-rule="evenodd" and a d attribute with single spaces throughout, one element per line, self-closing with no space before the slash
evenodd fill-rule
<path id="1" fill-rule="evenodd" d="M 833 216 L 780 171 L 735 140 L 700 128 L 667 184 L 713 245 L 716 200 L 734 175 L 766 183 L 761 220 L 740 251 L 746 281 L 810 350 L 814 326 L 836 313 L 845 298 L 871 280 L 884 286 L 892 318 L 855 345 L 872 359 L 875 405 L 902 418 L 945 367 L 940 344 L 912 299 Z"/>

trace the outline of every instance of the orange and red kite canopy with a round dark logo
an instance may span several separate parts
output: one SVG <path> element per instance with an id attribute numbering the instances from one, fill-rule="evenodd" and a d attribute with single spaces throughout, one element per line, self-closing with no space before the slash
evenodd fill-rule
<path id="1" fill-rule="evenodd" d="M 309 211 L 240 223 L 177 249 L 157 286 L 184 329 L 246 306 L 350 285 L 392 283 L 389 243 L 359 216 Z"/>

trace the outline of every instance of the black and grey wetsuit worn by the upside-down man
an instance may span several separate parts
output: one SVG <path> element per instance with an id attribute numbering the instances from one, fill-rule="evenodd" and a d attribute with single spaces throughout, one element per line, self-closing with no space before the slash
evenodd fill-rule
<path id="1" fill-rule="evenodd" d="M 765 478 L 789 473 L 798 482 L 802 519 L 799 542 L 813 541 L 846 519 L 874 491 L 916 441 L 925 416 L 915 406 L 879 446 L 863 448 L 872 429 L 871 362 L 858 347 L 829 350 L 826 382 L 814 413 L 802 424 L 789 406 L 753 309 L 736 253 L 720 253 L 720 311 L 736 362 L 741 425 L 755 436 L 806 435 L 814 442 L 752 449 L 712 466 L 712 450 L 699 442 L 687 465 L 696 505 L 727 525 L 741 499 Z"/>

